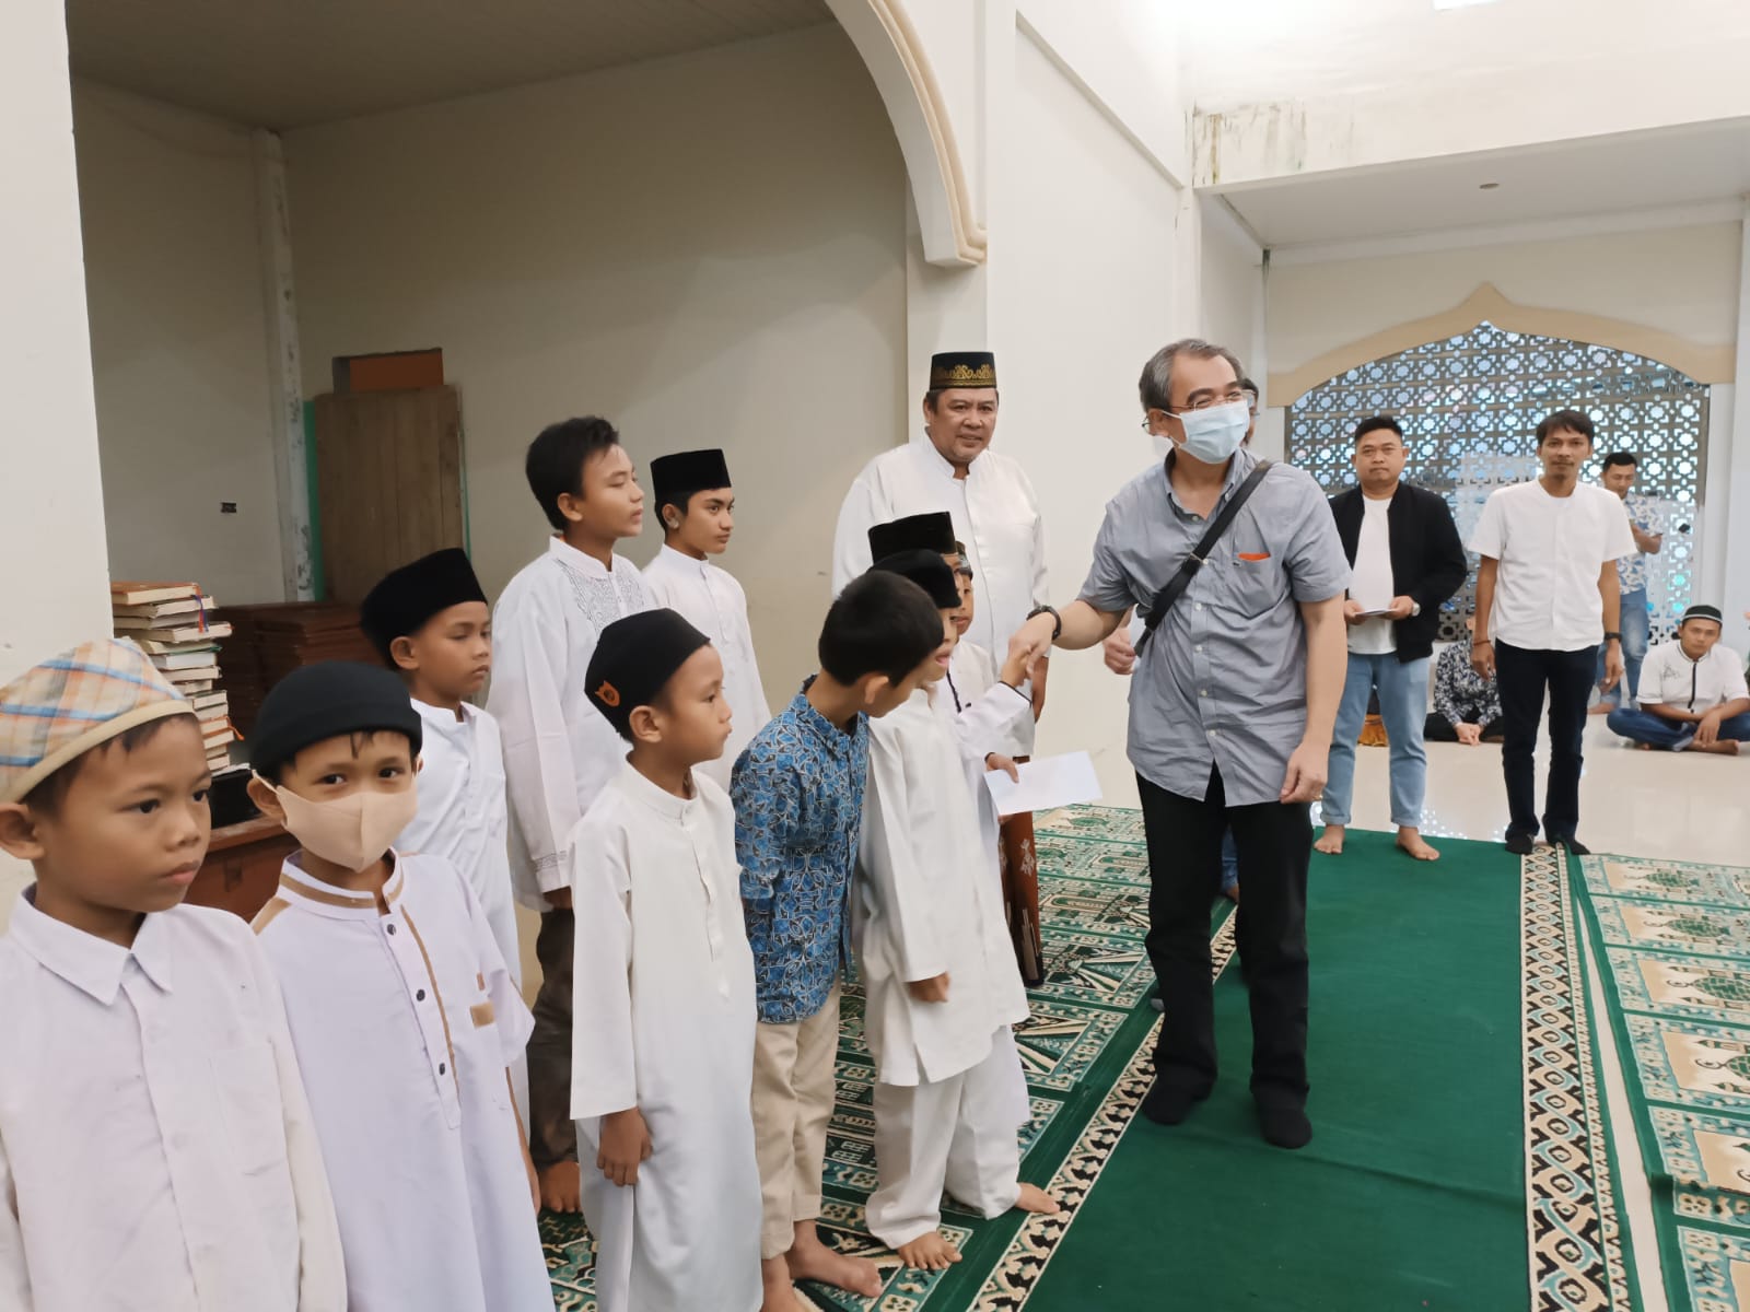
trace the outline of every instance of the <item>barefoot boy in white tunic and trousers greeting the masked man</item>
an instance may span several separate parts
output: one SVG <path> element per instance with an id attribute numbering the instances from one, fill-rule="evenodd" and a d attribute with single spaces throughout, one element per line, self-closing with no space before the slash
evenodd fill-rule
<path id="1" fill-rule="evenodd" d="M 942 611 L 943 640 L 922 687 L 870 726 L 856 899 L 864 1027 L 877 1062 L 870 1233 L 910 1267 L 943 1270 L 959 1253 L 942 1233 L 942 1190 L 980 1216 L 1055 1212 L 1018 1177 L 1026 1081 L 1012 1027 L 1027 995 L 1003 918 L 952 705 L 934 687 L 954 651 L 959 588 L 926 549 L 875 569 L 919 583 Z"/>

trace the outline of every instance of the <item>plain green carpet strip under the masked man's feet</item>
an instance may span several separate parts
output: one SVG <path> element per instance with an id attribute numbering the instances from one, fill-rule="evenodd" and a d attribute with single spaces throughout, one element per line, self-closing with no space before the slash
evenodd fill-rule
<path id="1" fill-rule="evenodd" d="M 1216 985 L 1223 1071 L 1183 1127 L 1138 1118 L 1027 1312 L 1526 1307 L 1519 868 L 1386 834 L 1314 855 L 1309 1113 L 1265 1146 L 1246 1090 L 1246 990 Z"/>

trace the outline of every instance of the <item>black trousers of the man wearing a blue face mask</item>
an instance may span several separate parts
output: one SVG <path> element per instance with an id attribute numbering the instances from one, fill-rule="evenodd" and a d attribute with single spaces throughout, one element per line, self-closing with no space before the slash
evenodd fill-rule
<path id="1" fill-rule="evenodd" d="M 1260 1102 L 1304 1106 L 1311 808 L 1228 806 L 1218 770 L 1209 771 L 1202 801 L 1141 775 L 1136 784 L 1148 834 L 1148 960 L 1164 1006 L 1155 1078 L 1195 1093 L 1214 1083 L 1209 904 L 1222 882 L 1222 834 L 1232 827 L 1246 890 L 1234 932 L 1251 992 L 1251 1093 Z"/>

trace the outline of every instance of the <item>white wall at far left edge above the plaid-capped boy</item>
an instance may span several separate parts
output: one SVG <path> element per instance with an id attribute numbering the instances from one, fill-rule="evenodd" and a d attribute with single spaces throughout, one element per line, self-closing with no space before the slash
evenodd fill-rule
<path id="1" fill-rule="evenodd" d="M 79 184 L 60 0 L 0 5 L 0 684 L 108 632 Z M 28 203 L 26 199 L 28 198 Z M 28 869 L 0 855 L 0 929 Z"/>

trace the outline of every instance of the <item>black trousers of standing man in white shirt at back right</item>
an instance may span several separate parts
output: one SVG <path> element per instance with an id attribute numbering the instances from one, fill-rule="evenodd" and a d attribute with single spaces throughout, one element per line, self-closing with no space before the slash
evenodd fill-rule
<path id="1" fill-rule="evenodd" d="M 1598 675 L 1598 647 L 1528 651 L 1494 644 L 1502 689 L 1502 775 L 1507 780 L 1507 834 L 1536 838 L 1536 726 L 1549 691 L 1549 787 L 1544 794 L 1544 836 L 1573 838 L 1580 827 L 1580 736 L 1586 701 Z"/>

